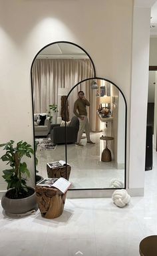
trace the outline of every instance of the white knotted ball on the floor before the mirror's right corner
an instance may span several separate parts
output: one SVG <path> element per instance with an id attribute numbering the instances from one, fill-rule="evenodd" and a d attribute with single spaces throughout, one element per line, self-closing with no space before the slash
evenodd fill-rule
<path id="1" fill-rule="evenodd" d="M 112 194 L 112 201 L 117 207 L 125 207 L 130 202 L 130 195 L 125 189 L 118 189 Z"/>

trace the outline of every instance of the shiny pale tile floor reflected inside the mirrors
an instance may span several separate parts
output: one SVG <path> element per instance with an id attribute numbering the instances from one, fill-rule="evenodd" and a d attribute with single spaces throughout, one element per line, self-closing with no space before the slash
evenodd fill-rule
<path id="1" fill-rule="evenodd" d="M 100 156 L 106 146 L 100 140 L 102 132 L 91 133 L 90 138 L 96 142 L 94 145 L 86 144 L 86 138 L 81 140 L 83 148 L 75 144 L 67 145 L 67 162 L 71 165 L 71 188 L 109 188 L 110 180 L 116 178 L 124 184 L 124 169 L 117 169 L 114 160 L 102 162 Z M 112 142 L 111 142 L 112 143 Z M 110 147 L 110 142 L 108 142 Z M 47 162 L 65 160 L 65 145 L 57 145 L 55 150 L 37 150 L 39 160 L 37 169 L 44 178 L 47 177 Z"/>

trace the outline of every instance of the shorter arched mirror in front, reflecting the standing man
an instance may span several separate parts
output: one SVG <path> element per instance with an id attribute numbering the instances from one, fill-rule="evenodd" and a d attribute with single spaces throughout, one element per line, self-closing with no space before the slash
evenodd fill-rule
<path id="1" fill-rule="evenodd" d="M 92 78 L 78 83 L 69 92 L 68 100 L 71 105 L 70 121 L 66 126 L 66 148 L 67 162 L 72 168 L 71 188 L 74 190 L 125 188 L 126 100 L 124 95 L 112 82 Z M 86 100 L 87 103 L 84 103 Z M 87 104 L 86 110 L 84 104 Z M 86 124 L 82 132 L 79 130 L 84 121 L 80 120 L 78 114 L 83 116 L 85 112 L 90 126 L 90 138 Z M 78 140 L 77 144 L 69 143 L 71 122 L 75 126 L 73 132 L 77 133 L 75 138 Z M 95 144 L 88 143 L 89 140 Z"/>

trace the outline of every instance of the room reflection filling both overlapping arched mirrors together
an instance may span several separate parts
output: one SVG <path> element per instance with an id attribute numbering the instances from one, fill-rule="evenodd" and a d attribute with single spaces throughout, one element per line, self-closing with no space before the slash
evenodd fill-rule
<path id="1" fill-rule="evenodd" d="M 53 162 L 65 161 L 66 122 L 71 189 L 124 188 L 126 103 L 120 90 L 100 78 L 79 83 L 94 77 L 94 67 L 71 43 L 45 47 L 31 76 L 37 182 L 49 176 Z"/>

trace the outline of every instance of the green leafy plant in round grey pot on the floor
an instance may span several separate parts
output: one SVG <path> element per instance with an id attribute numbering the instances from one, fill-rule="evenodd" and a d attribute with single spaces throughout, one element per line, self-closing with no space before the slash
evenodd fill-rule
<path id="1" fill-rule="evenodd" d="M 3 178 L 7 182 L 7 192 L 3 195 L 1 205 L 8 213 L 25 213 L 31 209 L 37 209 L 35 189 L 27 186 L 27 178 L 30 172 L 26 162 L 22 162 L 23 156 L 31 158 L 34 150 L 30 144 L 10 140 L 3 147 L 5 154 L 1 156 L 3 162 L 7 162 L 10 168 L 3 170 Z"/>

